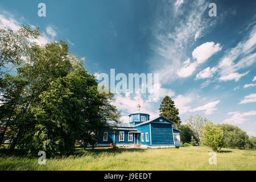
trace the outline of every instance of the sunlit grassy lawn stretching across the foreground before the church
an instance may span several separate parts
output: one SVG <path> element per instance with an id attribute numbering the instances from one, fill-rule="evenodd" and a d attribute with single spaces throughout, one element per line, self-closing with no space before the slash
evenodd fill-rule
<path id="1" fill-rule="evenodd" d="M 256 170 L 256 151 L 224 148 L 217 154 L 217 165 L 210 165 L 208 147 L 161 149 L 96 148 L 47 159 L 10 155 L 0 150 L 0 170 Z"/>

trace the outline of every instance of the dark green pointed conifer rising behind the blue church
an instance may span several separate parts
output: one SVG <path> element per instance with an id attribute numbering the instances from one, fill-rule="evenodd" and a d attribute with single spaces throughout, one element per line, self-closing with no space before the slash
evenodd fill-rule
<path id="1" fill-rule="evenodd" d="M 163 98 L 160 108 L 160 116 L 169 119 L 171 122 L 174 122 L 174 128 L 180 127 L 180 117 L 179 117 L 179 109 L 175 107 L 174 101 L 172 101 L 171 97 L 166 96 Z"/>

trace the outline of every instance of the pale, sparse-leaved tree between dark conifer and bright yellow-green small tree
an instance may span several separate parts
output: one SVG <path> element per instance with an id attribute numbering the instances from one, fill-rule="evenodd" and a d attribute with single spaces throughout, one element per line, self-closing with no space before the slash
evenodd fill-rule
<path id="1" fill-rule="evenodd" d="M 209 123 L 209 120 L 206 117 L 202 117 L 199 114 L 191 115 L 188 119 L 186 119 L 186 123 L 189 128 L 192 130 L 193 137 L 195 140 L 201 144 L 201 135 L 202 129 L 204 125 Z M 189 142 L 191 142 L 191 137 L 189 138 Z"/>

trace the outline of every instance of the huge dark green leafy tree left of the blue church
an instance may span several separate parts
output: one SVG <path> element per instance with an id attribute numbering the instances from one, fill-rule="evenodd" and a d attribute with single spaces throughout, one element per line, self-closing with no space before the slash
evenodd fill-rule
<path id="1" fill-rule="evenodd" d="M 10 119 L 8 126 L 16 130 L 11 150 L 18 144 L 28 152 L 68 154 L 88 131 L 97 138 L 108 121 L 118 122 L 113 94 L 98 93 L 96 78 L 64 42 L 31 43 L 23 60 L 16 76 L 5 74 L 1 87 L 1 121 Z"/>

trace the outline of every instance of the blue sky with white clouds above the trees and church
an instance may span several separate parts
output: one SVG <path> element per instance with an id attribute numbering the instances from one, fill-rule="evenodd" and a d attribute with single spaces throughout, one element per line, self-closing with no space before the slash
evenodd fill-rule
<path id="1" fill-rule="evenodd" d="M 46 17 L 38 4 L 46 4 Z M 217 16 L 208 15 L 209 3 Z M 185 119 L 205 115 L 256 136 L 255 1 L 1 1 L 0 27 L 40 27 L 39 44 L 64 40 L 90 73 L 159 73 L 160 95 L 117 94 L 122 119 L 157 117 L 169 95 Z"/>

